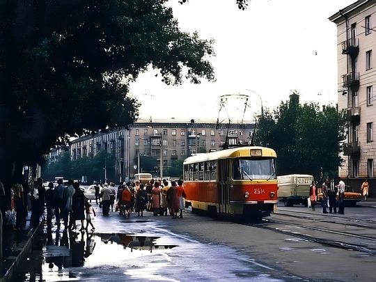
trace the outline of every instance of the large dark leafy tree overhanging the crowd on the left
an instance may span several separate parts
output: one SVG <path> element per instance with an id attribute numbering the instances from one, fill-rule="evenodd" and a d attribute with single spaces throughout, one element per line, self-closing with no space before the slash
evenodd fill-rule
<path id="1" fill-rule="evenodd" d="M 167 1 L 167 0 L 166 0 Z M 139 115 L 128 83 L 214 80 L 213 40 L 178 28 L 157 0 L 0 3 L 0 180 L 42 164 L 70 136 L 127 126 Z"/>

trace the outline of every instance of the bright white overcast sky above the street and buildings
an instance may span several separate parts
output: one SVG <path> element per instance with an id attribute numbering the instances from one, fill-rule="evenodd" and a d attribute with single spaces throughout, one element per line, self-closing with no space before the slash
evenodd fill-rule
<path id="1" fill-rule="evenodd" d="M 217 81 L 166 86 L 157 70 L 143 73 L 130 87 L 140 118 L 253 121 L 292 91 L 302 103 L 336 104 L 337 33 L 328 17 L 354 2 L 250 0 L 239 10 L 235 0 L 170 0 L 182 31 L 214 39 Z"/>

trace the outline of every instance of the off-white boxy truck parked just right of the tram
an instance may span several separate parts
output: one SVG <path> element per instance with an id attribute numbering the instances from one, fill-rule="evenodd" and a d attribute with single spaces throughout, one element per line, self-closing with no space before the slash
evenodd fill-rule
<path id="1" fill-rule="evenodd" d="M 277 177 L 277 180 L 277 197 L 279 201 L 283 201 L 286 207 L 292 207 L 295 204 L 302 204 L 308 207 L 307 198 L 309 196 L 309 187 L 314 180 L 313 175 L 280 175 Z"/>

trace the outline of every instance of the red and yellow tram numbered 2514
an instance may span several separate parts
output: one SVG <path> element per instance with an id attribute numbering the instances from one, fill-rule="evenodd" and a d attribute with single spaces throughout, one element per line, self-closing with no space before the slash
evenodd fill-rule
<path id="1" fill-rule="evenodd" d="M 277 204 L 276 152 L 245 146 L 188 157 L 185 207 L 212 215 L 264 217 Z"/>

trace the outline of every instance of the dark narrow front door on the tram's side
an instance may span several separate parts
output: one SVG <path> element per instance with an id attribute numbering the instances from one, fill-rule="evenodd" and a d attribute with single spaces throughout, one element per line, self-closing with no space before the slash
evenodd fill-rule
<path id="1" fill-rule="evenodd" d="M 228 204 L 230 203 L 229 191 L 229 161 L 227 159 L 220 159 L 219 166 L 219 212 L 227 213 Z"/>

